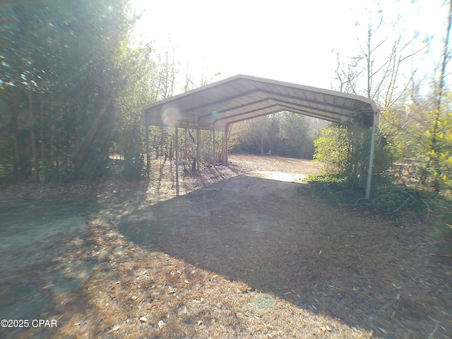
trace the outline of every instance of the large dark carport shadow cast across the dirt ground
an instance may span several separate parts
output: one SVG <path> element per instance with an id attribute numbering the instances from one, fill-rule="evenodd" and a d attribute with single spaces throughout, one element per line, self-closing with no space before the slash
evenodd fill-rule
<path id="1" fill-rule="evenodd" d="M 295 194 L 297 186 L 239 175 L 150 206 L 141 211 L 145 220 L 127 215 L 119 231 L 143 249 L 352 327 L 430 327 L 421 323 L 422 304 L 400 297 L 398 285 L 408 279 L 400 267 L 415 263 L 394 227 L 323 206 Z"/>

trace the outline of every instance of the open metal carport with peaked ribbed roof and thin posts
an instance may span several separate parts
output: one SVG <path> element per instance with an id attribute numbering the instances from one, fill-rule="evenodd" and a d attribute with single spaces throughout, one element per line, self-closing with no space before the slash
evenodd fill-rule
<path id="1" fill-rule="evenodd" d="M 370 196 L 371 174 L 374 160 L 375 129 L 379 123 L 379 108 L 373 100 L 359 95 L 323 90 L 305 85 L 285 83 L 254 76 L 237 75 L 222 81 L 190 90 L 143 108 L 141 121 L 146 126 L 146 160 L 149 174 L 149 126 L 167 126 L 175 129 L 176 142 L 179 128 L 199 131 L 225 132 L 234 122 L 254 119 L 278 112 L 292 112 L 340 124 L 357 122 L 365 128 L 372 126 L 369 150 L 369 173 L 366 198 Z M 176 163 L 179 147 L 176 144 Z M 215 146 L 213 147 L 215 152 Z M 199 165 L 199 147 L 196 148 Z M 214 153 L 215 165 L 215 153 Z M 227 152 L 226 152 L 227 162 Z M 176 192 L 179 195 L 179 171 L 176 166 Z"/>

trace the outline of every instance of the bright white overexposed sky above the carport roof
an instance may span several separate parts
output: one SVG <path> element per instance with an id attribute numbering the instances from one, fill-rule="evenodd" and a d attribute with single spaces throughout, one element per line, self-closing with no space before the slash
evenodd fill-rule
<path id="1" fill-rule="evenodd" d="M 375 34 L 383 42 L 376 66 L 387 59 L 398 35 L 412 42 L 405 52 L 422 48 L 432 37 L 429 54 L 405 62 L 406 71 L 420 66 L 434 73 L 441 54 L 446 25 L 444 0 L 132 0 L 143 11 L 136 35 L 153 42 L 158 53 L 174 51 L 179 78 L 187 69 L 194 81 L 203 73 L 214 81 L 246 74 L 319 88 L 336 89 L 334 69 L 341 61 L 362 54 L 364 37 L 371 23 L 384 23 Z M 417 32 L 417 33 L 416 33 Z M 414 65 L 412 65 L 414 63 Z M 188 66 L 187 66 L 188 65 Z M 420 72 L 419 72 L 420 73 Z M 180 92 L 182 85 L 175 89 Z"/>

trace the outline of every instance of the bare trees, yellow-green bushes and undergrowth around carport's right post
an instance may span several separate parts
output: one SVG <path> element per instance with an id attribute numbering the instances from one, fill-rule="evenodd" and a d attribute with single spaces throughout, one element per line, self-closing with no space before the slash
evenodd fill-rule
<path id="1" fill-rule="evenodd" d="M 391 53 L 381 57 L 379 49 L 386 41 L 391 41 L 386 32 L 383 39 L 379 36 L 379 28 L 384 25 L 381 11 L 371 13 L 378 19 L 377 25 L 369 20 L 367 30 L 362 29 L 362 35 L 366 35 L 362 52 L 350 58 L 347 64 L 340 62 L 338 54 L 338 69 L 335 70 L 338 89 L 365 95 L 381 107 L 371 200 L 362 199 L 362 184 L 367 175 L 368 131 L 357 131 L 354 126 L 329 126 L 321 131 L 315 141 L 314 158 L 335 173 L 310 177 L 309 181 L 312 189 L 340 203 L 386 214 L 411 209 L 429 217 L 429 212 L 434 212 L 436 237 L 451 244 L 448 210 L 451 210 L 452 186 L 452 105 L 450 89 L 446 88 L 446 66 L 450 60 L 452 2 L 446 1 L 444 6 L 448 6 L 444 47 L 438 56 L 439 71 L 428 95 L 425 95 L 422 80 L 415 76 L 417 70 L 404 76 L 402 67 L 403 62 L 417 57 L 428 47 L 428 40 L 412 49 L 415 44 L 411 42 L 417 37 L 405 43 L 404 35 L 400 34 Z M 393 24 L 393 28 L 397 25 Z M 448 206 L 448 210 L 441 206 Z"/>

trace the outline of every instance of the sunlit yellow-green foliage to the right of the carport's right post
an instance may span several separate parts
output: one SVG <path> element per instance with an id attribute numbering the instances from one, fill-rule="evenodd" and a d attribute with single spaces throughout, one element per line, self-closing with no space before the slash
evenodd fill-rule
<path id="1" fill-rule="evenodd" d="M 451 191 L 450 94 L 445 99 L 440 114 L 432 109 L 434 100 L 431 97 L 417 98 L 412 105 L 383 111 L 380 128 L 390 141 L 388 148 L 394 159 L 395 183 L 434 189 L 444 194 Z"/>

